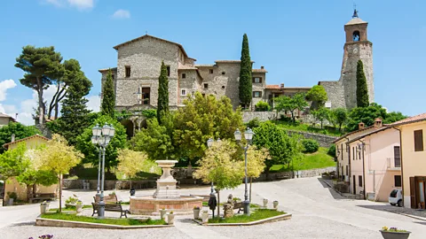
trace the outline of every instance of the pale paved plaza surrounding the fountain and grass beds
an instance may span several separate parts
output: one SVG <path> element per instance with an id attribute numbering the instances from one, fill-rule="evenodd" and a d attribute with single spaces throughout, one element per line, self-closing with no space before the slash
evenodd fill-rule
<path id="1" fill-rule="evenodd" d="M 221 192 L 221 201 L 229 193 L 243 197 L 244 186 Z M 108 191 L 109 192 L 109 191 Z M 128 190 L 116 191 L 122 201 L 129 200 Z M 148 196 L 153 189 L 138 190 L 137 196 Z M 64 198 L 77 195 L 84 204 L 93 200 L 93 192 L 64 190 Z M 181 189 L 182 195 L 208 195 L 209 187 Z M 262 204 L 268 198 L 280 201 L 280 210 L 293 214 L 283 220 L 252 227 L 203 227 L 193 223 L 191 215 L 177 216 L 176 227 L 134 230 L 83 229 L 67 227 L 36 227 L 38 204 L 0 207 L 0 238 L 28 238 L 53 234 L 54 238 L 382 238 L 383 226 L 412 231 L 410 239 L 426 238 L 426 221 L 417 220 L 382 208 L 384 203 L 345 199 L 329 189 L 319 178 L 258 182 L 253 184 L 253 202 Z M 58 202 L 53 202 L 54 207 Z M 86 210 L 85 214 L 91 213 Z M 114 212 L 106 216 L 115 217 Z"/>

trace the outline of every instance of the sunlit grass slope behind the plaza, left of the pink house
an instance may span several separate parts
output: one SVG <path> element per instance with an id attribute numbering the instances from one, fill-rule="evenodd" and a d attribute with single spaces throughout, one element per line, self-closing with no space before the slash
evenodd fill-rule
<path id="1" fill-rule="evenodd" d="M 294 170 L 308 170 L 313 168 L 323 168 L 327 166 L 335 166 L 335 159 L 327 154 L 327 148 L 320 147 L 314 153 L 304 154 L 304 157 L 293 161 Z M 291 168 L 291 166 L 290 166 Z M 287 166 L 274 165 L 271 172 L 288 171 Z"/>

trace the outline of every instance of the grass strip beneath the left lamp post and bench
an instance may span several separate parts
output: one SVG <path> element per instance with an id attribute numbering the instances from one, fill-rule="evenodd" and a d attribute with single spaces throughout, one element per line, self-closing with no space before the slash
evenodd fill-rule
<path id="1" fill-rule="evenodd" d="M 148 219 L 145 222 L 142 222 L 142 221 L 139 221 L 139 220 L 134 220 L 134 219 L 103 219 L 103 220 L 99 220 L 97 218 L 77 216 L 75 214 L 67 214 L 67 213 L 46 213 L 46 214 L 42 214 L 42 218 L 43 219 L 52 219 L 52 220 L 83 221 L 83 222 L 111 224 L 111 225 L 120 225 L 120 226 L 167 225 L 167 223 L 164 220 Z"/>

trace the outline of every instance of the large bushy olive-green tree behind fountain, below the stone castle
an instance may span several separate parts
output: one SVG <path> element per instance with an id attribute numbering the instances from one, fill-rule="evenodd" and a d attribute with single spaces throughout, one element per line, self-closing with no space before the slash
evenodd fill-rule
<path id="1" fill-rule="evenodd" d="M 244 128 L 241 109 L 233 111 L 231 100 L 222 96 L 202 96 L 185 99 L 174 117 L 173 140 L 179 156 L 191 160 L 201 158 L 209 138 L 233 139 L 237 128 Z M 169 127 L 170 128 L 170 127 Z"/>

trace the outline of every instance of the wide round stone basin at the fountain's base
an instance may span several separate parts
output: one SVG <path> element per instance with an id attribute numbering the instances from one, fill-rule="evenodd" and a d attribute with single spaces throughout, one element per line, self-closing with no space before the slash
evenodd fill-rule
<path id="1" fill-rule="evenodd" d="M 130 213 L 153 215 L 165 208 L 173 213 L 192 213 L 193 207 L 202 208 L 202 197 L 181 196 L 179 198 L 130 197 Z"/>

